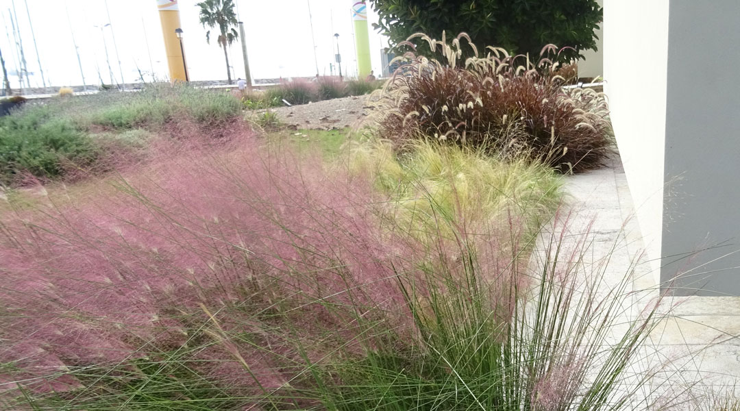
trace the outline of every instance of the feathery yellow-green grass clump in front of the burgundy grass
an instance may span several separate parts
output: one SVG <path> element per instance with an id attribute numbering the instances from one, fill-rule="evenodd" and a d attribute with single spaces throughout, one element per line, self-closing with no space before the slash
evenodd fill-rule
<path id="1" fill-rule="evenodd" d="M 388 218 L 420 240 L 452 236 L 436 214 L 475 227 L 515 214 L 534 235 L 562 200 L 562 176 L 542 163 L 491 157 L 485 150 L 417 141 L 397 156 L 388 141 L 349 150 L 349 170 L 374 181 L 397 202 Z"/>

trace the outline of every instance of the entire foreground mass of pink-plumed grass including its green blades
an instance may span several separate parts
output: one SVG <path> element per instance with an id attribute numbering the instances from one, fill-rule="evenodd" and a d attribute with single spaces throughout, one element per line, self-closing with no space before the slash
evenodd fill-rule
<path id="1" fill-rule="evenodd" d="M 650 313 L 604 349 L 628 282 L 597 293 L 567 213 L 545 234 L 517 199 L 486 213 L 460 208 L 460 183 L 448 198 L 417 181 L 414 214 L 321 157 L 192 146 L 11 204 L 4 407 L 616 410 L 634 394 L 613 398 Z"/>

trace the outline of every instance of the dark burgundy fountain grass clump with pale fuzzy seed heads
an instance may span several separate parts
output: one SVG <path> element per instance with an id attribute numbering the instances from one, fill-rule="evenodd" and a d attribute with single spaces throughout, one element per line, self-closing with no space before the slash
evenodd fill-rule
<path id="1" fill-rule="evenodd" d="M 484 57 L 462 33 L 447 44 L 417 34 L 445 62 L 408 52 L 405 64 L 381 93 L 380 135 L 403 147 L 431 138 L 462 146 L 514 152 L 559 171 L 600 166 L 612 140 L 603 95 L 591 89 L 564 89 L 548 58 L 556 47 L 543 48 L 539 60 L 508 55 L 488 47 Z M 476 57 L 460 61 L 462 40 Z M 403 46 L 414 47 L 410 41 Z"/>

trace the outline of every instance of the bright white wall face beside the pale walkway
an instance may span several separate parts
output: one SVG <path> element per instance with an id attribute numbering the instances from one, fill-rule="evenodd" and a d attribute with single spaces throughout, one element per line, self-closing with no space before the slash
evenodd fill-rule
<path id="1" fill-rule="evenodd" d="M 605 0 L 604 78 L 647 256 L 662 242 L 668 0 Z"/>

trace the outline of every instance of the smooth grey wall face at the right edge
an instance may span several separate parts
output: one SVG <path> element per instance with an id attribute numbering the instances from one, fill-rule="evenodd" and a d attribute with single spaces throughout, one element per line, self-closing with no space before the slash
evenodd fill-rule
<path id="1" fill-rule="evenodd" d="M 740 1 L 671 0 L 661 280 L 686 272 L 676 295 L 740 296 L 739 73 Z"/>

